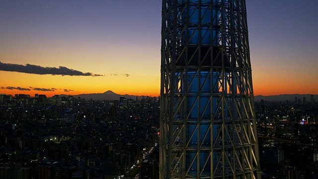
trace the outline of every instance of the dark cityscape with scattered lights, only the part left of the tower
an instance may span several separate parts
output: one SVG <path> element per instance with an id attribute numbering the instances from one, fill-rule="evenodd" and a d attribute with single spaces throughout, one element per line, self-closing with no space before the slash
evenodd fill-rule
<path id="1" fill-rule="evenodd" d="M 0 104 L 0 179 L 159 176 L 156 97 L 1 94 Z"/>

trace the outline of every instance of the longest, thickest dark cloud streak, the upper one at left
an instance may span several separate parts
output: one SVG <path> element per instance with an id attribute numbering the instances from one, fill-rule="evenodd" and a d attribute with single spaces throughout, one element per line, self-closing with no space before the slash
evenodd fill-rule
<path id="1" fill-rule="evenodd" d="M 77 70 L 69 69 L 66 67 L 41 67 L 38 65 L 26 64 L 7 64 L 0 62 L 0 71 L 7 72 L 19 72 L 19 73 L 28 73 L 28 74 L 37 74 L 37 75 L 69 75 L 69 76 L 92 76 L 92 77 L 101 77 L 104 75 L 92 74 L 92 73 L 83 73 Z"/>

